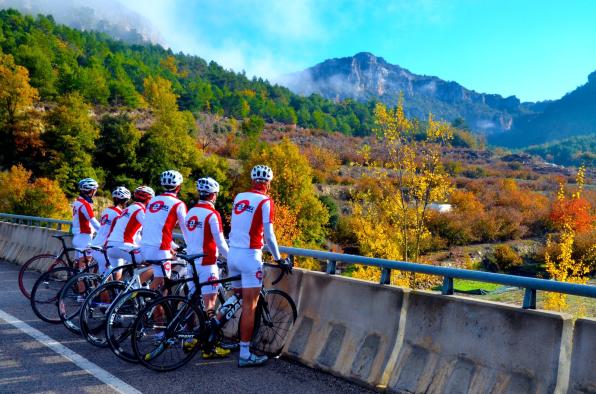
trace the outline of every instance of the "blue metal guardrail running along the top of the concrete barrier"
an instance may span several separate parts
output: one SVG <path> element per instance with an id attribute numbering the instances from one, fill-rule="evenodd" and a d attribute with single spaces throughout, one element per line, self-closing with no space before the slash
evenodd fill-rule
<path id="1" fill-rule="evenodd" d="M 34 216 L 12 215 L 0 213 L 0 221 L 20 223 L 29 226 L 54 227 L 58 230 L 64 227 L 70 229 L 70 221 L 40 218 Z M 182 239 L 182 234 L 174 234 L 174 238 Z M 497 283 L 501 285 L 514 286 L 525 289 L 523 308 L 536 309 L 536 291 L 550 291 L 555 293 L 571 294 L 582 297 L 596 298 L 596 286 L 579 285 L 574 283 L 557 282 L 554 280 L 528 278 L 524 276 L 496 274 L 492 272 L 481 272 L 465 270 L 460 268 L 439 267 L 434 265 L 409 263 L 405 261 L 386 260 L 372 257 L 356 256 L 342 253 L 324 252 L 320 250 L 291 248 L 280 246 L 282 253 L 294 256 L 311 257 L 317 260 L 324 260 L 327 263 L 326 272 L 334 275 L 337 262 L 363 264 L 381 268 L 381 284 L 389 284 L 391 270 L 417 272 L 443 277 L 442 294 L 453 294 L 453 279 L 469 279 L 479 282 Z"/>

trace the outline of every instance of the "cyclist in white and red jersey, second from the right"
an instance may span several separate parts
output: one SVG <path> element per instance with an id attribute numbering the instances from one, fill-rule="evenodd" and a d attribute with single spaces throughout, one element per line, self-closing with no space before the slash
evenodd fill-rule
<path id="1" fill-rule="evenodd" d="M 228 257 L 228 244 L 223 236 L 221 216 L 214 205 L 219 193 L 219 183 L 213 178 L 200 178 L 197 180 L 197 191 L 199 202 L 188 211 L 184 219 L 186 253 L 205 255 L 196 261 L 199 282 L 218 280 L 217 256 L 221 252 L 224 257 Z M 192 270 L 191 267 L 186 269 L 187 272 Z M 189 287 L 194 291 L 193 282 L 189 282 Z M 213 285 L 201 288 L 203 306 L 209 318 L 215 316 L 218 287 Z M 196 341 L 190 343 L 195 345 Z M 228 354 L 230 350 L 219 346 L 215 346 L 212 351 L 203 350 L 204 359 L 221 358 Z"/>

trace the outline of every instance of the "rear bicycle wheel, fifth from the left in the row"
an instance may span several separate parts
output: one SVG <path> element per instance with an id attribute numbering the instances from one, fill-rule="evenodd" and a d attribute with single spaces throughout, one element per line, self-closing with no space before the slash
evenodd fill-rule
<path id="1" fill-rule="evenodd" d="M 136 289 L 120 295 L 107 312 L 106 340 L 112 352 L 124 361 L 137 363 L 131 345 L 135 319 L 147 305 L 161 297 L 155 290 Z"/>

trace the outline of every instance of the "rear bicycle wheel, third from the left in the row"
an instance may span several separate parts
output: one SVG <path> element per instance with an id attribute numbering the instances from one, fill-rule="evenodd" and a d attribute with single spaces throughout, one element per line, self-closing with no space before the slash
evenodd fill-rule
<path id="1" fill-rule="evenodd" d="M 66 282 L 58 296 L 58 315 L 62 324 L 74 334 L 81 334 L 79 314 L 85 298 L 101 284 L 102 276 L 81 272 Z"/>

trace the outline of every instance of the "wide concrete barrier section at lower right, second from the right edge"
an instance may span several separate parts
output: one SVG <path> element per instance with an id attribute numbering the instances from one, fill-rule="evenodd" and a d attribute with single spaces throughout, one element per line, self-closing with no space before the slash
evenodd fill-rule
<path id="1" fill-rule="evenodd" d="M 563 334 L 571 324 L 570 316 L 556 313 L 413 291 L 388 388 L 552 393 Z"/>

